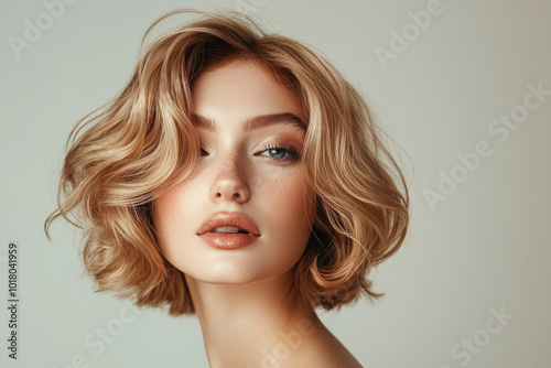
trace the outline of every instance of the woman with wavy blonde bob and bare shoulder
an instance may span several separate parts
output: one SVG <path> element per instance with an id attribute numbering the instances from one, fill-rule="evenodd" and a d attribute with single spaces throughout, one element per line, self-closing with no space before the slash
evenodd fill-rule
<path id="1" fill-rule="evenodd" d="M 380 296 L 366 275 L 406 236 L 400 170 L 305 45 L 191 10 L 144 40 L 182 12 L 201 17 L 71 133 L 46 235 L 60 216 L 85 229 L 98 290 L 196 313 L 212 367 L 360 367 L 315 309 Z"/>

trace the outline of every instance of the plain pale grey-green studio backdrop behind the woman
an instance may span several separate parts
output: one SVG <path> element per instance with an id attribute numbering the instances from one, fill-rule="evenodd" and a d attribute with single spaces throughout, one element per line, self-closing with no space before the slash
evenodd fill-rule
<path id="1" fill-rule="evenodd" d="M 551 96 L 526 97 L 528 86 L 551 90 L 550 3 L 242 3 L 268 30 L 333 62 L 402 149 L 396 151 L 412 198 L 408 239 L 374 273 L 382 300 L 322 314 L 334 334 L 374 368 L 551 366 Z M 1 2 L 2 305 L 10 240 L 19 242 L 21 281 L 17 361 L 7 357 L 8 311 L 0 309 L 2 367 L 207 366 L 195 317 L 137 315 L 93 293 L 80 277 L 78 232 L 58 221 L 52 245 L 42 225 L 54 209 L 71 128 L 123 87 L 148 25 L 180 7 L 238 6 L 80 0 L 55 18 L 41 1 Z M 433 14 L 422 23 L 415 14 L 428 9 Z M 44 30 L 18 57 L 10 40 L 24 41 L 29 22 Z M 386 63 L 377 56 L 383 48 L 393 50 Z M 518 123 L 500 122 L 511 115 Z M 444 176 L 458 183 L 441 183 Z M 426 193 L 439 185 L 445 201 L 431 206 Z M 109 339 L 102 349 L 101 328 Z"/>

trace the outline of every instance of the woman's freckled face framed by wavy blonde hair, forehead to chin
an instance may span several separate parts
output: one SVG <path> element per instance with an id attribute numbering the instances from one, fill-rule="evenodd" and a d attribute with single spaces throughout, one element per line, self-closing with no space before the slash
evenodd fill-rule
<path id="1" fill-rule="evenodd" d="M 246 283 L 284 274 L 304 251 L 314 214 L 314 196 L 300 170 L 306 131 L 299 105 L 253 62 L 203 73 L 192 96 L 199 162 L 153 206 L 164 256 L 205 282 Z M 250 125 L 255 117 L 282 113 Z M 203 227 L 207 217 L 217 213 L 247 216 L 257 228 L 251 232 L 258 234 L 199 236 L 209 228 Z"/>

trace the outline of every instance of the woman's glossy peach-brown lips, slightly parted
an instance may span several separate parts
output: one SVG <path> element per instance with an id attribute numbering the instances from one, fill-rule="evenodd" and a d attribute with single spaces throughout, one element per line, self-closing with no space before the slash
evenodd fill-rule
<path id="1" fill-rule="evenodd" d="M 248 234 L 209 232 L 223 226 L 236 226 Z M 216 213 L 206 218 L 197 236 L 207 245 L 222 249 L 237 249 L 255 242 L 260 237 L 256 225 L 240 213 Z"/>

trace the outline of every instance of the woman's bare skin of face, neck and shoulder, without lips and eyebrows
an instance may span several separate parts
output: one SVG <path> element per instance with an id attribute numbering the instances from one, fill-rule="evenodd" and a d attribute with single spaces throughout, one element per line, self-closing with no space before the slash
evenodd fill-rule
<path id="1" fill-rule="evenodd" d="M 305 130 L 241 130 L 257 115 L 305 121 L 299 104 L 251 61 L 204 72 L 192 96 L 192 112 L 213 119 L 216 131 L 197 127 L 199 163 L 155 201 L 153 223 L 164 256 L 185 274 L 210 367 L 361 367 L 292 288 L 315 202 L 300 155 L 285 150 L 300 152 Z M 267 150 L 276 145 L 284 148 Z M 239 249 L 208 246 L 196 232 L 217 212 L 246 214 L 261 236 Z"/>

